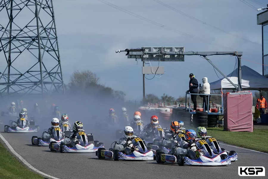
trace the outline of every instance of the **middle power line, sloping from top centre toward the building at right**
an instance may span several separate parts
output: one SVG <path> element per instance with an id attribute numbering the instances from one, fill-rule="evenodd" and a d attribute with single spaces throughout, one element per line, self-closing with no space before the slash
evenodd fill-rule
<path id="1" fill-rule="evenodd" d="M 186 13 L 180 11 L 180 10 L 177 10 L 177 9 L 175 9 L 174 7 L 171 7 L 171 6 L 169 6 L 168 4 L 165 4 L 165 3 L 163 3 L 163 2 L 161 2 L 161 1 L 159 1 L 159 0 L 152 0 L 152 1 L 155 1 L 155 2 L 157 2 L 158 4 L 162 4 L 163 6 L 169 8 L 169 9 L 171 9 L 171 10 L 174 10 L 174 11 L 176 11 L 177 13 L 182 14 L 183 16 L 186 16 L 186 17 L 188 17 L 188 18 L 191 18 L 191 19 L 193 19 L 193 20 L 195 20 L 195 21 L 197 21 L 197 22 L 200 22 L 201 24 L 207 25 L 207 26 L 212 27 L 212 28 L 214 28 L 214 29 L 216 29 L 216 30 L 219 30 L 219 31 L 221 31 L 221 32 L 230 34 L 230 35 L 232 35 L 232 36 L 236 36 L 236 37 L 241 38 L 241 39 L 243 39 L 243 40 L 245 40 L 245 41 L 249 41 L 249 42 L 251 42 L 251 43 L 254 43 L 254 44 L 257 44 L 257 45 L 261 45 L 261 44 L 259 44 L 259 43 L 257 43 L 257 42 L 250 41 L 250 40 L 248 40 L 248 39 L 246 39 L 246 38 L 243 38 L 243 37 L 238 36 L 238 35 L 236 35 L 236 34 L 230 33 L 230 32 L 228 32 L 228 31 L 226 31 L 226 30 L 222 30 L 222 29 L 220 29 L 220 28 L 218 28 L 218 27 L 215 27 L 215 26 L 213 26 L 213 25 L 211 25 L 211 24 L 208 24 L 208 23 L 206 23 L 206 22 L 204 22 L 204 21 L 201 21 L 201 20 L 199 20 L 199 19 L 197 19 L 197 18 L 195 18 L 195 17 L 193 17 L 193 16 L 190 16 L 190 15 L 188 15 L 188 14 L 186 14 Z"/>

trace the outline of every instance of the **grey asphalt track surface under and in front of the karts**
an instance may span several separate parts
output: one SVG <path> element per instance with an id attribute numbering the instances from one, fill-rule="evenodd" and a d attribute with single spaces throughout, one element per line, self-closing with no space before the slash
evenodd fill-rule
<path id="1" fill-rule="evenodd" d="M 2 125 L 1 125 L 2 126 Z M 3 130 L 1 130 L 3 131 Z M 238 166 L 264 166 L 268 176 L 268 155 L 248 149 L 222 145 L 226 150 L 238 152 L 239 160 L 229 166 L 199 167 L 157 164 L 156 161 L 113 161 L 99 160 L 95 154 L 55 153 L 48 147 L 31 145 L 32 134 L 1 132 L 14 150 L 36 169 L 57 178 L 244 178 L 238 175 Z M 37 134 L 41 135 L 41 132 Z M 102 141 L 106 149 L 116 140 Z M 254 177 L 247 177 L 254 178 Z"/>

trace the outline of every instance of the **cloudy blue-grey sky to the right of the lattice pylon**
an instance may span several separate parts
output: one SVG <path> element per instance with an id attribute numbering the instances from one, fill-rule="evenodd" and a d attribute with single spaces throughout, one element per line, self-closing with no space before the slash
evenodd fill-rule
<path id="1" fill-rule="evenodd" d="M 53 1 L 64 83 L 74 71 L 90 70 L 101 84 L 124 91 L 126 99 L 140 100 L 141 60 L 128 59 L 115 51 L 141 47 L 185 47 L 186 52 L 242 51 L 241 64 L 262 74 L 261 25 L 257 25 L 256 17 L 261 11 L 256 9 L 265 4 L 264 0 Z M 233 56 L 209 58 L 226 75 L 236 68 Z M 151 64 L 157 66 L 158 62 Z M 185 56 L 184 62 L 160 62 L 160 66 L 165 74 L 145 80 L 146 94 L 184 96 L 189 73 L 201 84 L 203 77 L 208 77 L 208 82 L 222 78 L 197 55 Z"/>

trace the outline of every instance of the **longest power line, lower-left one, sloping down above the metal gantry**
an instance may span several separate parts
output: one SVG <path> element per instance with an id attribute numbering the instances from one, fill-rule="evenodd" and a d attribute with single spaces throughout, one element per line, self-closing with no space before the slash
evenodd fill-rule
<path id="1" fill-rule="evenodd" d="M 142 20 L 144 20 L 144 21 L 147 21 L 147 22 L 149 22 L 149 23 L 151 23 L 151 24 L 157 25 L 157 26 L 162 27 L 162 28 L 164 28 L 164 29 L 166 29 L 166 30 L 170 30 L 170 31 L 172 31 L 172 32 L 174 32 L 174 33 L 178 33 L 178 34 L 187 36 L 187 37 L 189 37 L 189 38 L 197 39 L 197 40 L 199 40 L 199 41 L 203 41 L 203 42 L 206 42 L 206 43 L 208 43 L 208 44 L 217 45 L 217 46 L 219 46 L 219 47 L 223 47 L 223 48 L 226 48 L 226 49 L 230 49 L 230 50 L 238 51 L 238 50 L 235 50 L 235 49 L 233 49 L 233 48 L 226 47 L 226 46 L 223 46 L 223 45 L 220 45 L 220 44 L 216 44 L 216 43 L 214 43 L 214 42 L 210 42 L 210 41 L 204 40 L 204 39 L 202 39 L 202 38 L 198 38 L 198 37 L 192 36 L 192 35 L 190 35 L 190 34 L 183 33 L 183 32 L 180 32 L 180 31 L 178 31 L 178 30 L 172 29 L 172 28 L 170 28 L 170 27 L 168 27 L 168 26 L 165 26 L 165 25 L 163 25 L 163 24 L 160 24 L 160 23 L 155 22 L 155 21 L 152 21 L 152 20 L 150 20 L 150 19 L 148 19 L 148 18 L 139 16 L 139 15 L 137 15 L 137 14 L 135 14 L 135 13 L 132 13 L 132 12 L 130 12 L 130 11 L 128 11 L 128 10 L 125 10 L 125 9 L 123 9 L 123 8 L 121 8 L 121 7 L 119 7 L 119 6 L 116 6 L 116 5 L 114 5 L 114 4 L 110 3 L 110 2 L 107 2 L 107 1 L 104 1 L 104 0 L 98 0 L 98 1 L 100 1 L 100 2 L 102 2 L 102 3 L 104 3 L 104 4 L 107 4 L 108 6 L 111 6 L 111 7 L 113 7 L 113 8 L 116 8 L 116 9 L 118 9 L 118 10 L 121 10 L 121 11 L 123 11 L 124 13 L 130 14 L 130 15 L 135 16 L 135 17 L 137 17 L 137 18 L 140 18 L 140 19 L 142 19 Z M 244 52 L 244 53 L 246 53 L 246 52 Z M 252 54 L 252 53 L 248 53 L 248 54 Z M 255 55 L 255 54 L 254 54 L 254 55 Z M 255 56 L 259 56 L 259 55 L 255 55 Z"/>

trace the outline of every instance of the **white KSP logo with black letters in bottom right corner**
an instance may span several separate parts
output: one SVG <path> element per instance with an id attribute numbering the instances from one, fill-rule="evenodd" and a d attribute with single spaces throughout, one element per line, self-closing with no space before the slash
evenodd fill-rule
<path id="1" fill-rule="evenodd" d="M 239 176 L 265 176 L 265 168 L 263 166 L 239 166 Z"/>

